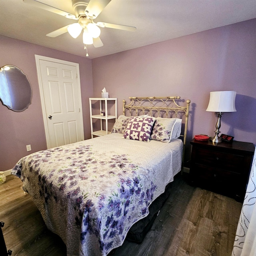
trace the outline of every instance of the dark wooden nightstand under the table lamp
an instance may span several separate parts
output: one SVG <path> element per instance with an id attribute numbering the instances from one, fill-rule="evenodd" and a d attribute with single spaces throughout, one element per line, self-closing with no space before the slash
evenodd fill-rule
<path id="1" fill-rule="evenodd" d="M 190 181 L 242 202 L 246 192 L 254 155 L 254 144 L 248 142 L 213 143 L 193 139 Z"/>

